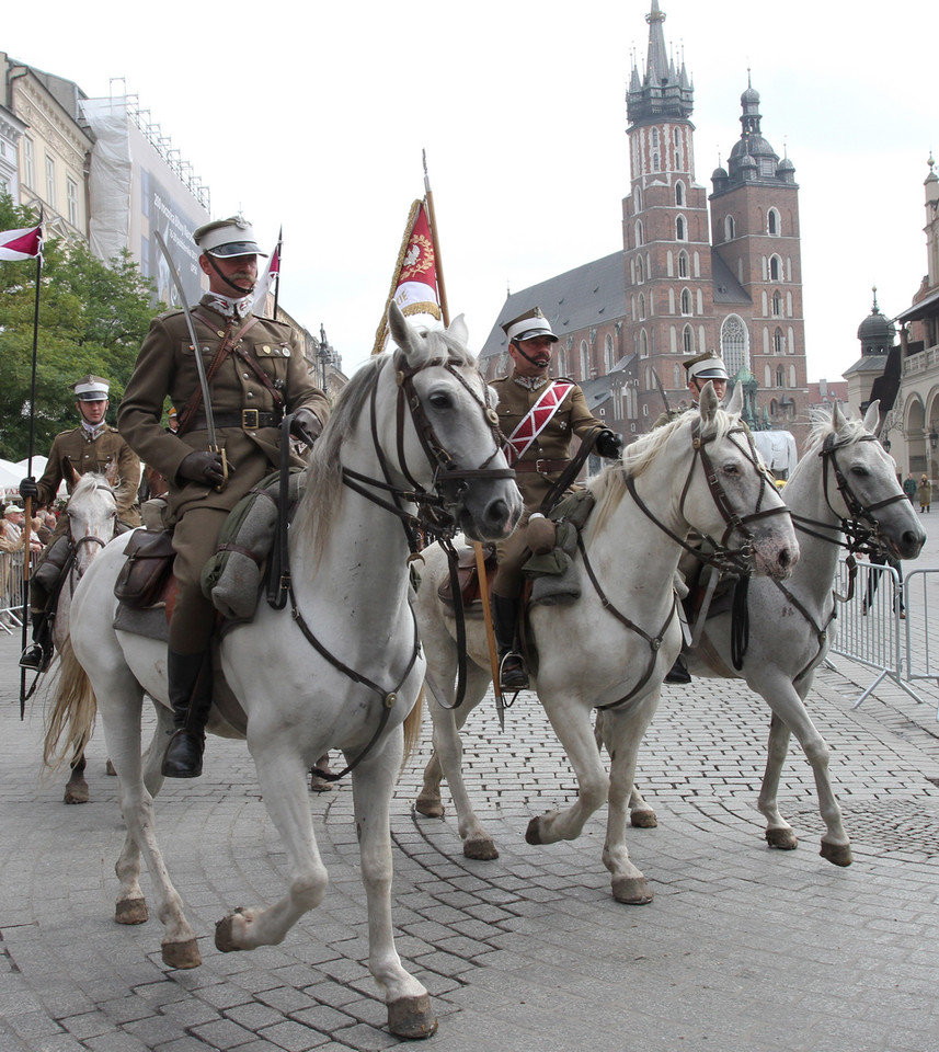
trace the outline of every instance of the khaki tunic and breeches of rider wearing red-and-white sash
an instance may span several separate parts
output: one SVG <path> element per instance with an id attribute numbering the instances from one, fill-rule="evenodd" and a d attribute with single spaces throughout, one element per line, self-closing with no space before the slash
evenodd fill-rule
<path id="1" fill-rule="evenodd" d="M 499 405 L 496 407 L 499 425 L 507 438 L 545 392 L 547 384 L 541 385 L 537 390 L 530 390 L 528 387 L 516 384 L 512 377 L 504 377 L 501 380 L 494 380 L 492 386 L 499 392 Z M 605 430 L 606 425 L 591 413 L 587 409 L 584 392 L 574 384 L 573 389 L 564 397 L 549 423 L 516 462 L 516 468 L 519 462 L 569 460 L 571 457 L 571 439 L 574 435 L 583 439 L 594 432 Z M 493 590 L 499 595 L 515 596 L 520 592 L 522 564 L 528 558 L 526 544 L 528 516 L 538 511 L 562 471 L 563 468 L 559 471 L 519 471 L 517 473 L 515 482 L 525 501 L 525 515 L 508 540 L 500 541 L 496 545 L 499 570 L 493 582 Z"/>

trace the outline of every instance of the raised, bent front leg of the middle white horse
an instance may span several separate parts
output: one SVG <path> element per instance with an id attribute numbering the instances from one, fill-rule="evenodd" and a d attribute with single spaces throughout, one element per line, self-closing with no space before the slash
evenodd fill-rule
<path id="1" fill-rule="evenodd" d="M 589 705 L 572 689 L 547 696 L 539 691 L 539 697 L 577 777 L 577 799 L 572 807 L 548 811 L 528 823 L 525 839 L 529 844 L 554 844 L 581 835 L 587 819 L 606 803 L 609 778 L 591 725 Z"/>

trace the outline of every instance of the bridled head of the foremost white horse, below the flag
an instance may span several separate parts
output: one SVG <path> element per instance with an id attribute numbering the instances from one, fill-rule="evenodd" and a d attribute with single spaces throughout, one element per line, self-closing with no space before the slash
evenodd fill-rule
<path id="1" fill-rule="evenodd" d="M 417 495 L 477 540 L 506 537 L 522 515 L 515 472 L 502 451 L 495 397 L 466 347 L 460 315 L 444 332 L 411 325 L 396 304 L 388 315 L 398 350 L 387 370 L 394 409 L 378 412 L 377 445 L 396 485 Z M 427 494 L 425 498 L 424 494 Z"/>

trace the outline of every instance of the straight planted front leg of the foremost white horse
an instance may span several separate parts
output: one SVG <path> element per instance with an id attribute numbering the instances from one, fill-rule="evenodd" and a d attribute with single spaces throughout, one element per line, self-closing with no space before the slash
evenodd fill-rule
<path id="1" fill-rule="evenodd" d="M 401 729 L 380 753 L 352 773 L 362 882 L 368 901 L 368 969 L 385 994 L 388 1028 L 400 1038 L 428 1038 L 437 1029 L 426 988 L 411 975 L 394 948 L 391 924 L 391 832 L 389 810 L 401 764 Z"/>

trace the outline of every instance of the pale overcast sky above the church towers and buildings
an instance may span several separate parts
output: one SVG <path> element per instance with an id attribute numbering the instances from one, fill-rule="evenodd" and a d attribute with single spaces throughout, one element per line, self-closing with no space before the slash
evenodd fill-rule
<path id="1" fill-rule="evenodd" d="M 696 176 L 709 191 L 740 137 L 752 69 L 763 133 L 800 186 L 809 377 L 839 379 L 859 356 L 871 286 L 892 317 L 926 272 L 935 5 L 661 7 L 694 79 Z M 47 0 L 4 4 L 0 49 L 90 96 L 126 83 L 210 187 L 213 218 L 242 209 L 265 245 L 283 224 L 282 302 L 325 325 L 351 373 L 423 193 L 422 149 L 450 310 L 476 348 L 507 288 L 622 248 L 625 92 L 650 8 Z"/>

